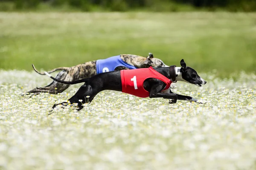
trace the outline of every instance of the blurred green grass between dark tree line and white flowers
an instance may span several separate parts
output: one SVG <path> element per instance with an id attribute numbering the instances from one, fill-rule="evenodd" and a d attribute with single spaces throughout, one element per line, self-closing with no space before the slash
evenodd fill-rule
<path id="1" fill-rule="evenodd" d="M 49 70 L 118 54 L 228 77 L 256 71 L 255 13 L 0 13 L 0 68 Z"/>

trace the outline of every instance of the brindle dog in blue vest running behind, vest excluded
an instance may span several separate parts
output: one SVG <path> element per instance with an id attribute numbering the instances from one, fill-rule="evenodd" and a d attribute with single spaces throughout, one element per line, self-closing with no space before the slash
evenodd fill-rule
<path id="1" fill-rule="evenodd" d="M 148 68 L 152 66 L 153 68 L 160 68 L 160 67 L 169 67 L 168 65 L 164 64 L 162 60 L 154 58 L 153 54 L 149 53 L 149 55 L 145 57 L 137 56 L 137 55 L 130 55 L 130 54 L 122 54 L 120 55 L 121 59 L 127 63 L 128 65 L 135 66 L 136 68 Z M 32 64 L 34 70 L 41 75 L 45 75 L 45 73 L 40 73 L 36 70 L 35 66 Z M 117 70 L 126 70 L 129 69 L 127 67 L 118 66 L 115 68 Z M 55 68 L 51 71 L 48 71 L 48 74 L 60 71 L 56 76 L 56 79 L 63 80 L 63 81 L 76 81 L 79 79 L 84 79 L 88 77 L 95 76 L 96 73 L 96 61 L 85 62 L 83 64 L 75 65 L 73 67 L 59 67 Z M 53 81 L 51 84 L 42 87 L 42 88 L 34 88 L 27 93 L 50 93 L 50 94 L 57 94 L 61 93 L 66 90 L 70 85 L 62 84 L 57 81 Z M 172 86 L 175 88 L 175 86 Z"/>

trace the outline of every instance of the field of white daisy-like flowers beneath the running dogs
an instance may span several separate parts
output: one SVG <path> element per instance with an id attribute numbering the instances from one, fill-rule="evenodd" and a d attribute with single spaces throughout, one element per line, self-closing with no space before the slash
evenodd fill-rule
<path id="1" fill-rule="evenodd" d="M 51 79 L 0 71 L 0 169 L 256 169 L 256 75 L 177 82 L 173 91 L 206 104 L 141 99 L 103 91 L 79 112 L 55 111 L 79 85 L 58 95 L 20 94 Z"/>

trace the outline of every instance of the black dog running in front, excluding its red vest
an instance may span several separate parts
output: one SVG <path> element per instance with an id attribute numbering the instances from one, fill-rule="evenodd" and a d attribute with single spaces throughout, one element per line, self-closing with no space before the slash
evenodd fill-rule
<path id="1" fill-rule="evenodd" d="M 193 68 L 186 67 L 186 63 L 184 62 L 183 59 L 180 61 L 180 65 L 181 67 L 176 67 L 174 65 L 168 68 L 166 67 L 154 68 L 154 70 L 162 74 L 164 77 L 167 77 L 172 82 L 183 81 L 183 82 L 197 85 L 199 87 L 201 87 L 201 85 L 206 84 L 206 81 L 201 77 L 199 77 L 197 72 Z M 136 69 L 134 71 L 139 71 L 139 70 L 140 69 Z M 70 99 L 68 99 L 68 102 L 70 102 L 70 104 L 77 103 L 78 111 L 80 111 L 83 108 L 83 104 L 88 102 L 90 103 L 93 100 L 93 98 L 96 96 L 96 94 L 98 94 L 100 91 L 104 91 L 104 90 L 122 91 L 123 80 L 122 80 L 121 72 L 122 71 L 111 71 L 108 73 L 98 74 L 96 76 L 93 76 L 87 79 L 76 80 L 73 82 L 62 81 L 52 77 L 47 72 L 45 73 L 47 74 L 47 76 L 54 79 L 55 81 L 65 83 L 65 84 L 73 85 L 73 84 L 84 82 L 84 85 L 82 85 L 79 88 L 76 94 L 72 96 Z M 152 77 L 154 76 L 152 75 Z M 161 81 L 160 79 L 148 78 L 148 79 L 145 79 L 142 83 L 145 91 L 148 91 L 149 93 L 148 96 L 150 98 L 163 97 L 164 99 L 171 99 L 169 102 L 170 104 L 176 103 L 177 99 L 186 100 L 189 102 L 205 103 L 205 101 L 201 101 L 190 96 L 183 96 L 180 94 L 173 93 L 170 89 L 166 89 L 167 84 Z M 54 109 L 57 105 L 64 107 L 65 105 L 68 104 L 68 102 L 55 104 L 53 105 L 52 109 Z"/>

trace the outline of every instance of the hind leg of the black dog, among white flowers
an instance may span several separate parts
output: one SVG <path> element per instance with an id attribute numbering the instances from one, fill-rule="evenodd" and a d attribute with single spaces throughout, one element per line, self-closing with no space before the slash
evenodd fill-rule
<path id="1" fill-rule="evenodd" d="M 82 85 L 79 90 L 76 92 L 76 94 L 74 96 L 72 96 L 70 99 L 68 99 L 68 101 L 70 102 L 70 104 L 74 104 L 77 103 L 77 111 L 80 111 L 83 108 L 83 104 L 84 103 L 90 103 L 94 96 L 96 96 L 96 92 L 93 92 L 93 89 L 90 85 Z M 57 105 L 67 105 L 69 102 L 62 102 L 59 104 L 55 104 L 53 105 L 52 109 L 54 109 Z"/>

